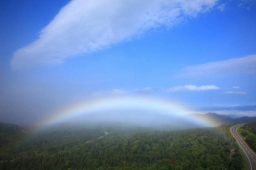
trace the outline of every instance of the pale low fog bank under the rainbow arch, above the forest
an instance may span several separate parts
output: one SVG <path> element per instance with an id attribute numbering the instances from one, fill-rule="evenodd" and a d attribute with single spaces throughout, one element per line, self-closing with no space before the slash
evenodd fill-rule
<path id="1" fill-rule="evenodd" d="M 70 116 L 58 123 L 78 123 L 78 124 L 130 124 L 133 126 L 153 127 L 161 129 L 187 129 L 209 126 L 204 122 L 193 119 L 190 115 L 175 116 L 158 113 L 148 113 L 137 110 L 123 110 L 100 112 L 78 116 Z M 50 125 L 50 124 L 47 124 Z"/>

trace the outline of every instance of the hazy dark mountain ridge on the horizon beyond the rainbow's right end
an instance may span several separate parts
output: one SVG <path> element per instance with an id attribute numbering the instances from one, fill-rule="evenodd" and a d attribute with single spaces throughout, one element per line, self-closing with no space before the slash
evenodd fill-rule
<path id="1" fill-rule="evenodd" d="M 216 113 L 206 113 L 206 114 L 191 114 L 193 117 L 214 122 L 216 125 L 222 124 L 234 124 L 234 123 L 248 123 L 256 121 L 256 117 L 243 116 L 241 118 L 229 118 L 227 116 L 219 115 Z"/>

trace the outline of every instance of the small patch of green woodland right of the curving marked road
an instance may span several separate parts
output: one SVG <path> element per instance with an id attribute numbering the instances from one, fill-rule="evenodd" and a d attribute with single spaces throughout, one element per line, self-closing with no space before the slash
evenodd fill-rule
<path id="1" fill-rule="evenodd" d="M 248 146 L 256 152 L 256 121 L 244 124 L 239 128 L 239 134 L 242 135 Z"/>

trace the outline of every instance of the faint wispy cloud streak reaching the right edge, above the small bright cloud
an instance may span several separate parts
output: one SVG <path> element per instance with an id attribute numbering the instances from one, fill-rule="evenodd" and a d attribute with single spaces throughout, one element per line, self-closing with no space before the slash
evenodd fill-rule
<path id="1" fill-rule="evenodd" d="M 200 77 L 210 75 L 234 75 L 240 73 L 256 73 L 256 55 L 242 58 L 209 62 L 201 65 L 188 66 L 181 70 L 175 77 Z"/>

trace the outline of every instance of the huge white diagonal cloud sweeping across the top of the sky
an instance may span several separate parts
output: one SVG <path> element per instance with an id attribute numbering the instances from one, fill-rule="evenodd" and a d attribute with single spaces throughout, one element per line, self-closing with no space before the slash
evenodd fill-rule
<path id="1" fill-rule="evenodd" d="M 48 66 L 130 40 L 162 25 L 206 12 L 217 0 L 72 0 L 42 29 L 39 39 L 14 52 L 13 68 Z"/>

